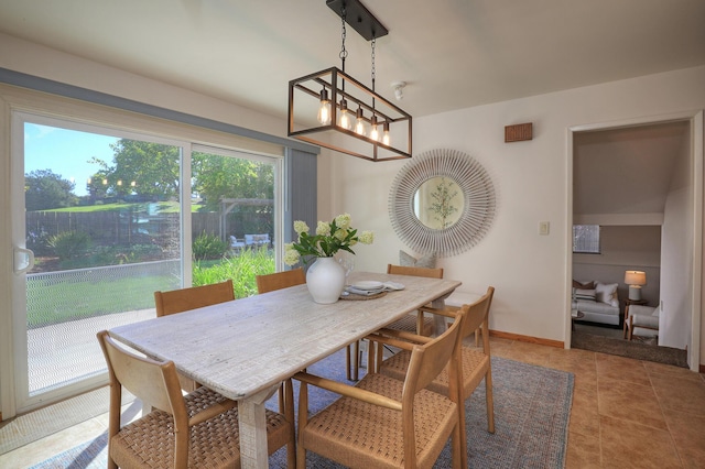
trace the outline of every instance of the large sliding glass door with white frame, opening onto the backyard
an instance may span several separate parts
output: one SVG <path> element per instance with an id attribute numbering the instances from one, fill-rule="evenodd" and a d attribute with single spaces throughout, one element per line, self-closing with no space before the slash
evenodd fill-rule
<path id="1" fill-rule="evenodd" d="M 153 293 L 274 272 L 282 159 L 12 114 L 12 412 L 107 382 L 96 334 Z M 185 183 L 184 183 L 185 182 Z"/>

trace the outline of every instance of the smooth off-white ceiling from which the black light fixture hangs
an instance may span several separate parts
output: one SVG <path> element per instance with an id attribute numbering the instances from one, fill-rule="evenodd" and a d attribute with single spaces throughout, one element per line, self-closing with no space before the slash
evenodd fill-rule
<path id="1" fill-rule="evenodd" d="M 366 3 L 376 89 L 406 81 L 414 117 L 705 64 L 702 0 Z M 340 66 L 325 0 L 0 0 L 0 32 L 278 117 L 290 79 Z M 370 44 L 346 48 L 371 86 Z"/>

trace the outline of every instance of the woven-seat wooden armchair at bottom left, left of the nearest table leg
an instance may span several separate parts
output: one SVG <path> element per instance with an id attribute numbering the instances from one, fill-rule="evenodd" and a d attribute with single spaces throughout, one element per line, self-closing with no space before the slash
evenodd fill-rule
<path id="1" fill-rule="evenodd" d="M 137 356 L 105 330 L 98 332 L 98 340 L 110 374 L 108 468 L 240 467 L 235 401 L 207 388 L 184 396 L 172 361 Z M 122 388 L 154 410 L 121 426 Z M 267 411 L 267 437 L 269 454 L 286 445 L 288 465 L 294 468 L 293 410 L 288 416 Z"/>

